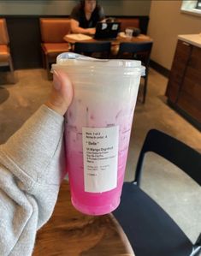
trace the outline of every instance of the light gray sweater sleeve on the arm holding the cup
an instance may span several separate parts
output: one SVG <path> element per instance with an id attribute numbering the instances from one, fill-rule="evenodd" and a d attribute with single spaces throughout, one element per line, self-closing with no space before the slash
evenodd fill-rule
<path id="1" fill-rule="evenodd" d="M 65 170 L 63 116 L 42 105 L 0 146 L 0 255 L 31 255 Z"/>

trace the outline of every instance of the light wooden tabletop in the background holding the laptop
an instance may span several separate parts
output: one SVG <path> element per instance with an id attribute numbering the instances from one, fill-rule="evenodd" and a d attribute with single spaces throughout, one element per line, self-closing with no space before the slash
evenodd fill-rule
<path id="1" fill-rule="evenodd" d="M 152 39 L 149 36 L 146 36 L 144 34 L 140 34 L 138 37 L 132 37 L 131 39 L 126 37 L 118 36 L 116 39 L 107 40 L 107 39 L 88 39 L 88 40 L 75 40 L 68 37 L 68 34 L 65 35 L 63 38 L 65 41 L 67 41 L 69 44 L 74 45 L 76 42 L 97 42 L 97 41 L 109 41 L 111 42 L 111 45 L 120 45 L 121 42 L 152 42 Z"/>

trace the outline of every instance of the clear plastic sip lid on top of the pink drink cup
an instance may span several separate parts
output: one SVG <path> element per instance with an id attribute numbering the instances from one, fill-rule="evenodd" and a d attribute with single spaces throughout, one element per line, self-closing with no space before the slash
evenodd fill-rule
<path id="1" fill-rule="evenodd" d="M 97 72 L 109 71 L 112 73 L 119 72 L 122 74 L 125 72 L 132 72 L 132 74 L 145 75 L 145 67 L 141 65 L 140 61 L 135 60 L 121 60 L 121 59 L 97 59 L 93 57 L 86 57 L 74 52 L 64 52 L 56 58 L 56 64 L 52 65 L 52 69 L 62 68 L 67 72 L 74 72 L 74 66 L 76 66 L 76 72 L 84 72 L 87 70 L 93 70 Z"/>

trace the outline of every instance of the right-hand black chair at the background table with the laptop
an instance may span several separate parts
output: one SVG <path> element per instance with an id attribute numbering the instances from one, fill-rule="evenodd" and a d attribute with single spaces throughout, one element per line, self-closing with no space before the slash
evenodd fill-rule
<path id="1" fill-rule="evenodd" d="M 144 83 L 144 91 L 143 91 L 143 100 L 142 103 L 145 104 L 145 97 L 147 91 L 147 81 L 149 74 L 149 65 L 150 65 L 150 56 L 151 56 L 151 48 L 152 42 L 144 42 L 144 43 L 132 43 L 132 42 L 123 42 L 120 44 L 120 48 L 117 54 L 118 58 L 122 59 L 134 59 L 140 60 L 142 64 L 145 66 L 145 83 Z"/>

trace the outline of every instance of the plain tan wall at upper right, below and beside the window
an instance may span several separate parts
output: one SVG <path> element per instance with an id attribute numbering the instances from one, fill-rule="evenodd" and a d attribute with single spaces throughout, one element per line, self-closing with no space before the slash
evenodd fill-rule
<path id="1" fill-rule="evenodd" d="M 201 33 L 201 16 L 181 13 L 181 3 L 151 1 L 148 27 L 154 41 L 151 60 L 168 69 L 171 69 L 178 34 Z"/>

